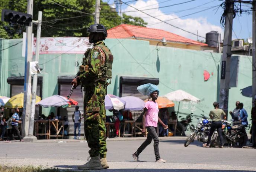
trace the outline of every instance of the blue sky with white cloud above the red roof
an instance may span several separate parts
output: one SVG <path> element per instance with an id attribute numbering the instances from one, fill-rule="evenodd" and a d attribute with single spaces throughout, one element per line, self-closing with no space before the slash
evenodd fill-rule
<path id="1" fill-rule="evenodd" d="M 113 0 L 105 0 L 109 4 Z M 220 24 L 221 15 L 223 13 L 222 7 L 219 7 L 223 0 L 122 0 L 127 2 L 139 10 L 144 10 L 145 13 L 157 17 L 161 20 L 169 20 L 174 26 L 195 33 L 199 36 L 205 37 L 205 34 L 212 30 L 221 33 L 223 39 L 224 28 Z M 189 1 L 189 2 L 188 2 Z M 180 4 L 183 3 L 183 4 Z M 177 4 L 174 6 L 170 6 Z M 169 7 L 164 7 L 169 6 Z M 184 32 L 180 29 L 170 26 L 169 24 L 162 23 L 134 8 L 122 4 L 122 12 L 130 16 L 142 17 L 148 23 L 147 27 L 163 29 L 168 32 L 178 34 L 193 40 L 197 36 Z M 250 9 L 250 4 L 242 4 L 242 9 Z M 149 10 L 145 10 L 149 9 Z M 132 11 L 132 12 L 130 12 Z M 198 12 L 198 13 L 197 13 Z M 195 14 L 192 14 L 195 13 Z M 199 40 L 205 40 L 198 37 Z M 233 34 L 234 39 L 245 39 L 252 37 L 252 14 L 240 13 L 233 19 Z"/>

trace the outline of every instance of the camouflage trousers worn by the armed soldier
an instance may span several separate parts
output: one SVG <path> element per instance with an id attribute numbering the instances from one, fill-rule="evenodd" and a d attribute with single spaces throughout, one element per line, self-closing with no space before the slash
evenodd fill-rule
<path id="1" fill-rule="evenodd" d="M 84 93 L 84 133 L 90 148 L 90 157 L 100 155 L 106 158 L 106 86 L 98 84 L 85 88 Z"/>

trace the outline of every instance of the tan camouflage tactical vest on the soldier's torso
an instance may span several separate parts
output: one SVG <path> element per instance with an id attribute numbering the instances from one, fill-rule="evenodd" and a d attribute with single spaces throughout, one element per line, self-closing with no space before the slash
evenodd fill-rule
<path id="1" fill-rule="evenodd" d="M 101 56 L 102 56 L 102 60 L 103 62 L 105 61 L 105 63 L 100 66 L 100 73 L 98 75 L 98 79 L 102 81 L 110 79 L 110 82 L 109 82 L 110 84 L 111 78 L 112 78 L 113 55 L 110 52 L 109 48 L 106 47 L 104 44 L 98 44 L 95 46 L 95 48 L 99 49 L 99 52 L 101 53 Z"/>

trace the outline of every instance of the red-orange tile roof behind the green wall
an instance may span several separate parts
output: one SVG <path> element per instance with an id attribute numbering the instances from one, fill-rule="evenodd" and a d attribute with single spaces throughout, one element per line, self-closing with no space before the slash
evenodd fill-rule
<path id="1" fill-rule="evenodd" d="M 148 27 L 134 26 L 129 24 L 121 24 L 108 30 L 108 38 L 131 38 L 135 36 L 142 39 L 161 40 L 163 37 L 170 42 L 179 42 L 185 44 L 194 44 L 199 46 L 208 46 L 192 39 L 179 36 L 174 33 L 161 29 L 153 29 Z"/>

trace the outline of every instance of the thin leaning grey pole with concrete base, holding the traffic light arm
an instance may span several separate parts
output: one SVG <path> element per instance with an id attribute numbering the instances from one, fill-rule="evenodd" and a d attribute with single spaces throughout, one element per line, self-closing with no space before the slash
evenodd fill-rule
<path id="1" fill-rule="evenodd" d="M 36 33 L 36 56 L 35 56 L 35 62 L 38 62 L 39 61 L 40 38 L 41 38 L 42 11 L 38 11 L 38 20 L 33 21 L 33 23 L 38 24 L 37 25 L 37 33 Z M 31 116 L 29 119 L 28 137 L 25 137 L 25 138 L 28 138 L 29 141 L 32 141 L 32 142 L 37 141 L 37 138 L 35 136 L 33 136 L 34 119 L 35 119 L 35 104 L 36 104 L 36 87 L 37 87 L 37 73 L 34 74 L 34 76 L 33 76 Z"/>

